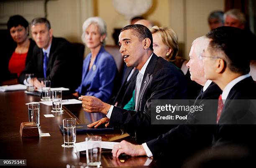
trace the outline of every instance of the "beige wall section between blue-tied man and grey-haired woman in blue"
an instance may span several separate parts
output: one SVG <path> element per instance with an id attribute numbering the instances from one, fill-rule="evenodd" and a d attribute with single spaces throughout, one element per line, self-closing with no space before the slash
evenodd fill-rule
<path id="1" fill-rule="evenodd" d="M 92 0 L 50 0 L 47 10 L 54 36 L 82 42 L 82 24 L 93 15 Z"/>

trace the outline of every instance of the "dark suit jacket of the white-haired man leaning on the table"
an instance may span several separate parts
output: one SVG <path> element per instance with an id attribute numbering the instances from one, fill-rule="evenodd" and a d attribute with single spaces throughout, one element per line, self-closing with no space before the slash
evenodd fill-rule
<path id="1" fill-rule="evenodd" d="M 148 141 L 147 146 L 153 157 L 159 160 L 163 159 L 163 161 L 167 158 L 172 160 L 172 164 L 180 166 L 188 156 L 210 146 L 215 125 L 197 125 L 195 123 L 197 118 L 211 119 L 214 117 L 216 121 L 218 108 L 216 103 L 221 93 L 222 91 L 218 85 L 212 82 L 197 97 L 194 104 L 204 106 L 202 113 L 189 113 L 185 124 L 179 125 L 158 138 Z M 215 104 L 212 104 L 213 99 L 216 100 Z"/>

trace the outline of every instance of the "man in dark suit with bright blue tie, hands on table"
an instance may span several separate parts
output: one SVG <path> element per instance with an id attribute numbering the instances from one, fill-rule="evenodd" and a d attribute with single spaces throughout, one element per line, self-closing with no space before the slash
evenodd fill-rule
<path id="1" fill-rule="evenodd" d="M 41 87 L 41 79 L 51 80 L 51 87 L 67 87 L 74 89 L 74 61 L 72 60 L 71 44 L 52 35 L 50 22 L 46 18 L 36 18 L 31 22 L 32 37 L 36 42 L 33 58 L 21 73 L 19 82 L 23 84 L 25 74 L 34 74 L 34 86 Z"/>

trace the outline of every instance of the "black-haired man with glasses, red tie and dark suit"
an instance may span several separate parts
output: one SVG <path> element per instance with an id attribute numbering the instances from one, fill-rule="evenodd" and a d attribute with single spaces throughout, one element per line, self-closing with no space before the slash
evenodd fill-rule
<path id="1" fill-rule="evenodd" d="M 238 145 L 255 155 L 256 109 L 251 99 L 256 98 L 256 85 L 248 74 L 255 44 L 249 43 L 246 32 L 236 27 L 219 27 L 207 37 L 211 41 L 202 54 L 205 77 L 223 90 L 213 149 Z"/>

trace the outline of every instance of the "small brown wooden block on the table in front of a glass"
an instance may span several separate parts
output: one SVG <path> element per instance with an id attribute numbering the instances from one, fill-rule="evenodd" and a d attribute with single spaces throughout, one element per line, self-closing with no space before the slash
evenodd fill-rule
<path id="1" fill-rule="evenodd" d="M 39 137 L 38 128 L 35 122 L 23 122 L 20 124 L 21 137 Z"/>

